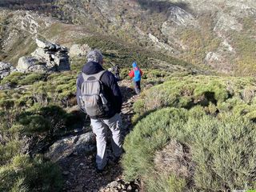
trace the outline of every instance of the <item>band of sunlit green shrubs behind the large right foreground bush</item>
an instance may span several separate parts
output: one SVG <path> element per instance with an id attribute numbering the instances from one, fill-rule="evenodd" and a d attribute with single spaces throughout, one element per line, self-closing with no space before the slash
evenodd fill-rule
<path id="1" fill-rule="evenodd" d="M 241 102 L 247 106 L 254 103 L 254 83 L 253 78 L 201 75 L 169 78 L 144 92 L 144 105 L 137 107 L 140 111 L 136 112 L 143 114 L 165 106 L 190 109 L 197 105 L 208 107 L 210 104 L 217 107 L 216 111 L 233 110 Z"/>

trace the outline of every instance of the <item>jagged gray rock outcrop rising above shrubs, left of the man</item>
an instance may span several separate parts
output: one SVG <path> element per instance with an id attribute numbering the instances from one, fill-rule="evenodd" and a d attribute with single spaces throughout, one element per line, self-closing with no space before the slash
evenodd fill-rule
<path id="1" fill-rule="evenodd" d="M 51 42 L 36 39 L 38 48 L 29 57 L 18 60 L 21 72 L 45 72 L 70 70 L 68 50 Z"/>

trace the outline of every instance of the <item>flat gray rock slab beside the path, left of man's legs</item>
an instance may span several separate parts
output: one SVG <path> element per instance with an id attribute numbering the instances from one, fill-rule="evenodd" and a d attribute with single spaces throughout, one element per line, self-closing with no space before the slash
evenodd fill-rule
<path id="1" fill-rule="evenodd" d="M 49 152 L 46 153 L 46 157 L 50 158 L 53 162 L 58 162 L 59 160 L 70 156 L 70 154 L 90 154 L 96 149 L 95 142 L 95 137 L 92 132 L 81 134 L 79 136 L 62 138 L 50 146 Z"/>

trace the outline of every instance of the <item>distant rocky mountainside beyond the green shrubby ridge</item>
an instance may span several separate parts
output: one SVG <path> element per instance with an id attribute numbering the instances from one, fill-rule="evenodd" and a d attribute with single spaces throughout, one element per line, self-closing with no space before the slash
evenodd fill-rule
<path id="1" fill-rule="evenodd" d="M 11 5 L 15 4 L 15 1 L 10 2 Z M 242 2 L 224 0 L 25 2 L 27 5 L 52 5 L 46 8 L 39 6 L 38 11 L 83 28 L 83 30 L 70 31 L 69 26 L 65 26 L 65 30 L 70 31 L 71 34 L 76 33 L 79 36 L 85 33 L 84 30 L 89 30 L 97 36 L 103 34 L 111 36 L 115 42 L 122 40 L 132 45 L 135 43 L 139 49 L 147 47 L 158 50 L 196 66 L 212 67 L 226 74 L 254 75 L 256 34 L 255 30 L 251 29 L 256 25 L 254 22 L 256 6 L 253 0 Z M 16 3 L 16 5 L 18 8 L 10 9 L 31 10 L 29 7 L 22 6 L 22 3 Z M 17 18 L 11 18 L 11 16 L 8 19 L 9 22 L 12 22 L 12 19 L 17 21 Z M 8 22 L 8 19 L 3 22 Z M 56 25 L 46 28 L 54 32 L 58 27 L 64 27 Z M 78 26 L 71 25 L 70 28 L 78 28 Z M 20 29 L 15 25 L 9 26 L 11 27 Z M 28 29 L 26 26 L 25 28 Z M 39 31 L 46 28 L 38 26 Z M 15 31 L 9 33 L 14 36 Z M 26 31 L 22 34 L 27 36 Z M 8 37 L 8 34 L 6 35 Z M 53 37 L 51 33 L 43 33 L 43 36 L 54 42 L 68 41 Z M 72 41 L 74 42 L 76 38 L 78 37 Z M 28 41 L 30 40 L 26 40 Z"/>

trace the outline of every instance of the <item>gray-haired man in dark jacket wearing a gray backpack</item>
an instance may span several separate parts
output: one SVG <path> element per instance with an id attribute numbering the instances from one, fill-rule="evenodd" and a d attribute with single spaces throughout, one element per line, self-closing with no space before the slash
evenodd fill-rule
<path id="1" fill-rule="evenodd" d="M 87 63 L 77 79 L 78 106 L 90 116 L 90 123 L 96 134 L 96 169 L 102 172 L 107 164 L 106 135 L 112 132 L 111 145 L 114 162 L 122 154 L 122 94 L 114 74 L 102 67 L 103 56 L 100 50 L 87 54 Z"/>

